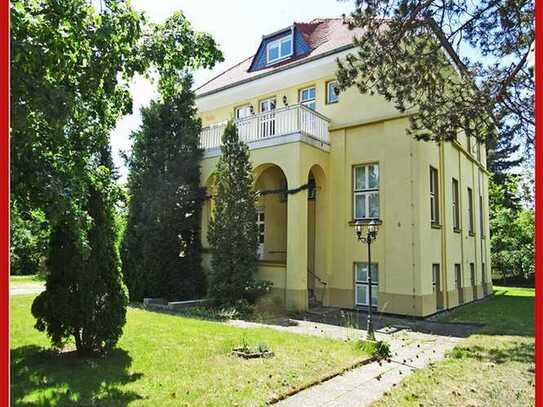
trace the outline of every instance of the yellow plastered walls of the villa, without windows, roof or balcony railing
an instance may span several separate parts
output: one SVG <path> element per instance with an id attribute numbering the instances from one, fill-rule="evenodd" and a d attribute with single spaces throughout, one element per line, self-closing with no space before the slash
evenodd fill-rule
<path id="1" fill-rule="evenodd" d="M 288 188 L 307 183 L 312 171 L 317 181 L 317 199 L 307 200 L 307 191 L 260 198 L 266 208 L 266 255 L 264 260 L 285 264 L 261 264 L 261 278 L 274 282 L 284 293 L 287 307 L 307 306 L 307 287 L 313 283 L 307 269 L 314 270 L 328 285 L 324 303 L 354 307 L 354 263 L 367 261 L 367 249 L 355 239 L 353 226 L 353 166 L 379 163 L 380 225 L 372 245 L 372 262 L 379 265 L 379 310 L 395 314 L 430 315 L 436 312 L 432 288 L 432 264 L 440 264 L 441 291 L 445 308 L 458 305 L 454 264 L 462 265 L 464 302 L 473 297 L 469 263 L 475 263 L 476 285 L 482 285 L 481 263 L 490 282 L 488 233 L 488 177 L 482 164 L 466 151 L 466 138 L 457 143 L 418 142 L 406 135 L 408 117 L 399 114 L 383 98 L 361 95 L 350 89 L 335 104 L 325 104 L 325 84 L 332 77 L 279 89 L 243 101 L 201 112 L 203 125 L 229 119 L 236 106 L 250 103 L 258 112 L 259 100 L 275 96 L 282 106 L 298 102 L 298 91 L 316 86 L 316 110 L 330 119 L 330 151 L 302 141 L 251 150 L 257 189 L 279 187 L 286 177 Z M 475 140 L 473 141 L 475 143 Z M 484 150 L 484 149 L 483 149 Z M 202 185 L 207 185 L 217 158 L 202 163 Z M 438 169 L 440 227 L 430 223 L 429 168 Z M 452 178 L 459 181 L 461 232 L 453 231 Z M 475 236 L 468 234 L 467 188 L 473 189 Z M 480 191 L 480 192 L 479 192 Z M 483 196 L 485 239 L 479 232 L 479 193 Z M 202 216 L 203 245 L 210 205 Z M 314 242 L 314 243 L 313 243 Z M 269 253 L 269 251 L 286 253 Z M 275 264 L 274 263 L 274 264 Z M 275 274 L 274 274 L 275 273 Z M 482 293 L 482 288 L 480 292 Z M 479 296 L 482 294 L 479 293 Z"/>

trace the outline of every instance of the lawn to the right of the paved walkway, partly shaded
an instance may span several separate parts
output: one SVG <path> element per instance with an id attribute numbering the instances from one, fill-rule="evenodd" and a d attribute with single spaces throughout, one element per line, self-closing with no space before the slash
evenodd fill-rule
<path id="1" fill-rule="evenodd" d="M 408 376 L 375 406 L 534 405 L 534 295 L 494 287 L 494 297 L 466 305 L 442 322 L 485 324 L 447 358 Z"/>

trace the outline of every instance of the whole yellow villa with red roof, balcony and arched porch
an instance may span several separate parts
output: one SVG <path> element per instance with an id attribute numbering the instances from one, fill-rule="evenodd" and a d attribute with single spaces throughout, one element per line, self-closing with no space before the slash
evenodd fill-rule
<path id="1" fill-rule="evenodd" d="M 354 35 L 341 18 L 294 23 L 198 88 L 202 185 L 212 188 L 234 118 L 259 191 L 258 277 L 288 310 L 371 302 L 428 316 L 480 299 L 492 292 L 484 145 L 416 141 L 406 135 L 408 113 L 384 98 L 338 94 L 337 58 L 353 51 Z M 204 250 L 212 204 L 203 209 Z M 371 220 L 379 231 L 370 301 L 354 225 Z"/>

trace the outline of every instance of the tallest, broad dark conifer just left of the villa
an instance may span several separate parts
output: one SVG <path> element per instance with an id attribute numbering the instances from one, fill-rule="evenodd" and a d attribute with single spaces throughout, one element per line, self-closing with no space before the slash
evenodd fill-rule
<path id="1" fill-rule="evenodd" d="M 142 109 L 132 135 L 123 273 L 131 300 L 191 299 L 205 292 L 201 268 L 201 130 L 191 80 Z"/>

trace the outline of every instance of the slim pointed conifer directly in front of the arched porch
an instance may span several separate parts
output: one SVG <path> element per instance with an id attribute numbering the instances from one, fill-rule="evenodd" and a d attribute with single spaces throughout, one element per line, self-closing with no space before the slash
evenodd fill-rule
<path id="1" fill-rule="evenodd" d="M 257 271 L 256 195 L 249 149 L 229 121 L 217 164 L 215 207 L 208 239 L 212 250 L 209 296 L 217 304 L 253 303 L 264 286 Z"/>

